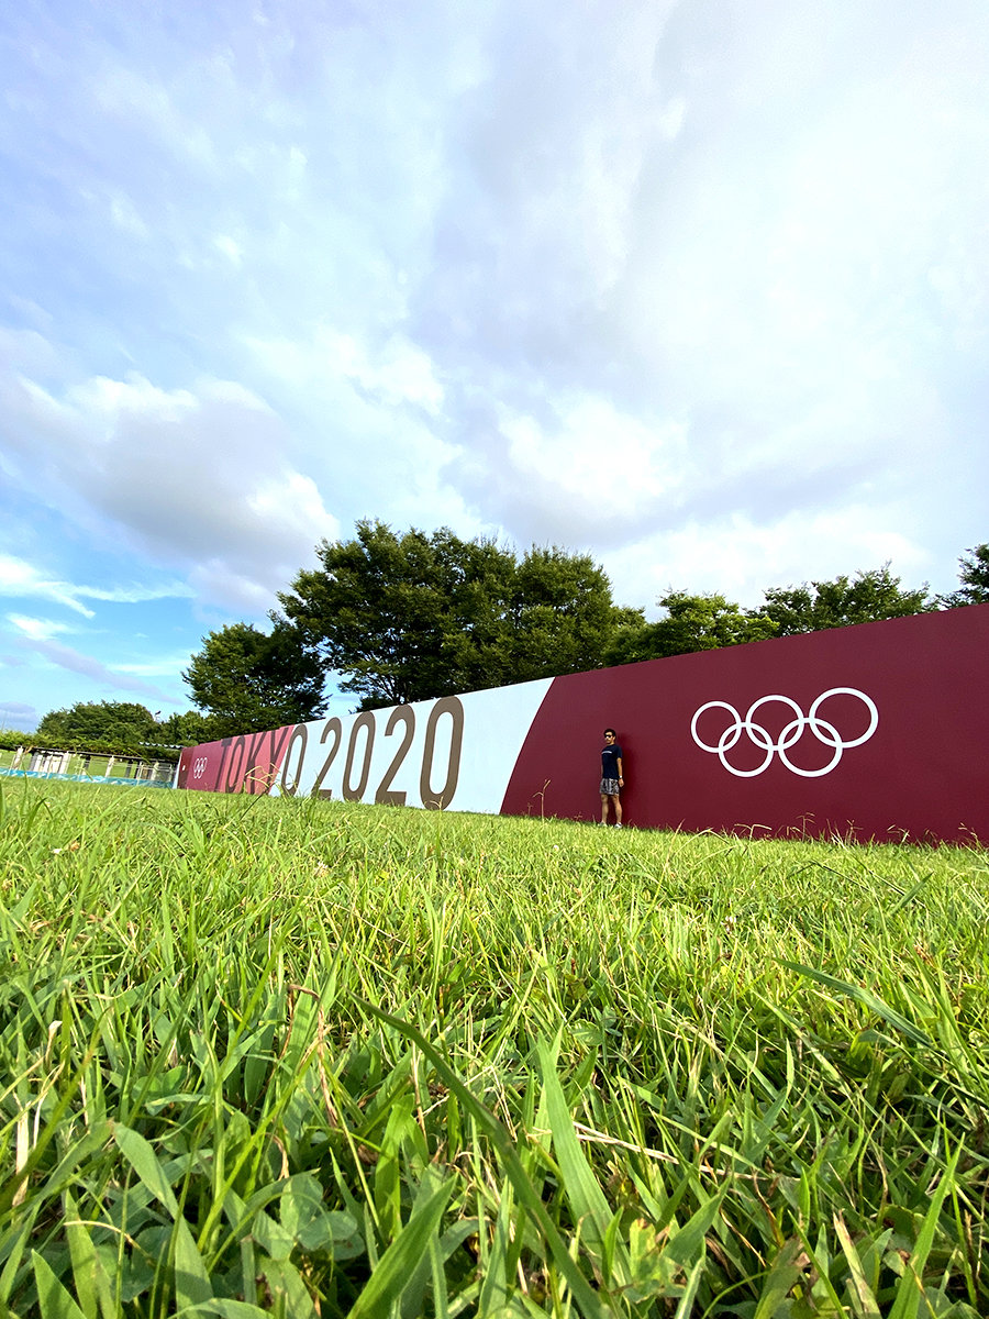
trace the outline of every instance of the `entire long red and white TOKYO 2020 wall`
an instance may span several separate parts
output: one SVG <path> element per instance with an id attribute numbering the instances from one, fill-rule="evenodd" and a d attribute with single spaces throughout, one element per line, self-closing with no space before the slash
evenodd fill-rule
<path id="1" fill-rule="evenodd" d="M 244 735 L 179 787 L 576 820 L 601 731 L 626 823 L 989 843 L 989 604 Z"/>

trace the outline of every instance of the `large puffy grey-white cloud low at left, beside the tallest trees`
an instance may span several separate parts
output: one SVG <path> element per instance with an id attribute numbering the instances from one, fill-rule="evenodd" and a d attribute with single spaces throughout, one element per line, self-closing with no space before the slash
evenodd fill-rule
<path id="1" fill-rule="evenodd" d="M 57 492 L 91 534 L 123 538 L 161 565 L 187 572 L 223 566 L 200 575 L 199 586 L 225 576 L 270 599 L 320 537 L 336 534 L 315 483 L 287 459 L 286 427 L 237 383 L 167 390 L 136 373 L 98 376 L 55 396 L 21 379 L 5 389 L 0 381 L 0 394 L 11 418 L 9 454 L 25 485 L 46 497 Z M 174 591 L 123 588 L 95 598 L 165 594 Z M 61 592 L 62 603 L 83 613 L 79 596 L 87 595 L 94 592 Z M 241 588 L 215 603 L 237 607 L 243 598 Z"/>

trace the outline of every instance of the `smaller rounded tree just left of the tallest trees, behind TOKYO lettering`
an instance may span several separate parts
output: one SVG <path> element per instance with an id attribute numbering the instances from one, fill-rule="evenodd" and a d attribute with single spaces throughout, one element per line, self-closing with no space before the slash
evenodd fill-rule
<path id="1" fill-rule="evenodd" d="M 270 633 L 249 623 L 211 632 L 182 677 L 214 739 L 305 723 L 326 708 L 322 669 L 284 621 Z"/>

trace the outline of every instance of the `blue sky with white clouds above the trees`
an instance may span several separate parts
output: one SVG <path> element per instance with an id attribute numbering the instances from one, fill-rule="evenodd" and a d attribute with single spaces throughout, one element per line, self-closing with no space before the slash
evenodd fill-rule
<path id="1" fill-rule="evenodd" d="M 0 728 L 363 517 L 616 603 L 989 539 L 985 0 L 0 9 Z"/>

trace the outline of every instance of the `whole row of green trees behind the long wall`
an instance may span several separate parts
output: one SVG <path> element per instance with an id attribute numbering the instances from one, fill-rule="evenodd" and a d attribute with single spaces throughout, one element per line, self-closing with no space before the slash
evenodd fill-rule
<path id="1" fill-rule="evenodd" d="M 315 719 L 327 683 L 373 710 L 989 601 L 989 543 L 961 557 L 949 595 L 931 595 L 926 583 L 905 588 L 886 563 L 771 587 L 756 609 L 719 594 L 670 591 L 657 601 L 665 616 L 655 623 L 614 603 L 589 555 L 558 547 L 520 557 L 448 528 L 397 533 L 367 520 L 349 541 L 322 541 L 316 557 L 319 567 L 278 595 L 270 630 L 236 623 L 203 637 L 182 674 L 195 711 L 157 723 L 142 706 L 74 706 L 46 715 L 37 737 L 61 733 L 74 740 L 58 745 L 79 745 L 96 736 L 100 719 L 131 711 L 128 732 L 140 731 L 131 745 L 193 745 Z M 115 741 L 121 732 L 117 721 Z"/>

